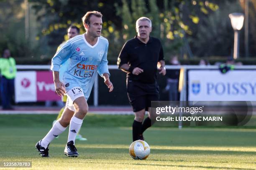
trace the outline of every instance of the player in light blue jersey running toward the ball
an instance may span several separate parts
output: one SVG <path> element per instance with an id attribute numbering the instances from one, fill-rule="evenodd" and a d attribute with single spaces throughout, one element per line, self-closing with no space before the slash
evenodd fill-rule
<path id="1" fill-rule="evenodd" d="M 69 125 L 69 136 L 64 154 L 77 157 L 75 138 L 88 111 L 87 100 L 97 72 L 104 78 L 105 84 L 113 90 L 108 71 L 108 40 L 102 36 L 102 14 L 97 11 L 87 12 L 82 22 L 86 33 L 69 39 L 52 58 L 54 84 L 59 96 L 67 94 L 67 103 L 61 118 L 55 122 L 49 133 L 38 143 L 36 149 L 42 157 L 49 157 L 49 144 L 64 132 Z M 60 65 L 69 62 L 64 72 L 63 81 L 59 80 Z"/>

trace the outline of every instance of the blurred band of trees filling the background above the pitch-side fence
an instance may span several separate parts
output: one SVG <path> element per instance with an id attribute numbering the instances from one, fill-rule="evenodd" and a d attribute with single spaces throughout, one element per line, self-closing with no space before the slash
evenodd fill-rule
<path id="1" fill-rule="evenodd" d="M 31 20 L 31 25 L 37 25 L 38 29 L 34 29 L 36 40 L 27 42 L 24 36 L 24 0 L 2 0 L 0 29 L 5 34 L 0 35 L 0 45 L 8 44 L 13 55 L 30 59 L 34 56 L 33 60 L 46 62 L 64 41 L 68 26 L 77 25 L 83 33 L 82 16 L 88 10 L 98 10 L 103 14 L 102 36 L 110 41 L 108 59 L 112 64 L 116 62 L 123 43 L 136 35 L 135 22 L 141 16 L 152 20 L 151 35 L 161 39 L 167 59 L 174 54 L 181 54 L 184 58 L 193 54 L 198 57 L 230 55 L 233 31 L 230 31 L 228 16 L 224 15 L 230 9 L 243 7 L 242 1 L 239 5 L 238 0 L 28 0 L 33 8 L 31 15 L 37 18 L 36 22 Z M 255 4 L 251 0 L 250 22 L 255 21 L 252 17 Z M 254 25 L 250 24 L 250 50 L 255 49 L 256 44 L 256 35 L 252 32 Z M 243 45 L 240 47 L 243 52 Z M 256 55 L 255 51 L 250 53 Z"/>

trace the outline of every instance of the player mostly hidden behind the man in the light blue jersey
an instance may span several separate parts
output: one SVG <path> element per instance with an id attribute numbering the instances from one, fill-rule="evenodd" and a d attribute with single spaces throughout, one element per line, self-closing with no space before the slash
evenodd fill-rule
<path id="1" fill-rule="evenodd" d="M 79 29 L 77 26 L 75 26 L 75 25 L 70 25 L 70 27 L 69 27 L 68 30 L 67 30 L 68 38 L 70 39 L 70 38 L 73 38 L 73 37 L 79 35 L 79 32 L 80 32 L 80 29 Z M 65 44 L 65 42 L 62 42 L 62 43 L 59 45 L 59 47 L 57 48 L 57 51 L 58 51 L 58 50 L 62 47 L 62 45 L 64 45 L 64 44 Z M 68 61 L 64 62 L 64 63 L 61 65 L 60 70 L 59 70 L 59 79 L 60 79 L 60 81 L 63 80 L 63 74 L 64 74 L 64 72 L 67 70 L 68 65 L 69 65 L 69 62 L 68 62 Z M 62 102 L 64 102 L 64 103 L 67 102 L 67 95 L 64 95 L 64 96 L 62 97 Z M 62 107 L 62 108 L 61 108 L 61 110 L 59 111 L 59 115 L 57 116 L 56 120 L 54 120 L 54 122 L 53 122 L 53 125 L 54 125 L 54 123 L 61 117 L 61 115 L 62 115 L 64 109 L 65 109 L 65 107 Z M 57 139 L 57 138 L 58 138 L 58 137 L 56 137 L 56 139 Z M 84 140 L 87 140 L 87 139 L 86 139 L 86 138 L 83 138 L 82 135 L 80 135 L 79 132 L 78 132 L 78 133 L 77 133 L 77 136 L 76 136 L 76 140 L 82 140 L 82 141 L 84 141 Z"/>

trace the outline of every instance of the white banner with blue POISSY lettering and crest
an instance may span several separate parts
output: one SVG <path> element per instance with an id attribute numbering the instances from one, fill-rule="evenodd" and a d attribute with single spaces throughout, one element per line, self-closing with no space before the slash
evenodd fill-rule
<path id="1" fill-rule="evenodd" d="M 256 101 L 256 70 L 189 70 L 188 100 Z"/>

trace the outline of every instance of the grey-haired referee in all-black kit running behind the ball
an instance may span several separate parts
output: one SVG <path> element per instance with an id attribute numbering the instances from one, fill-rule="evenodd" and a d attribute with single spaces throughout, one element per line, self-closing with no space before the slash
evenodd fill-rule
<path id="1" fill-rule="evenodd" d="M 135 112 L 133 141 L 144 140 L 143 132 L 151 126 L 151 101 L 159 100 L 157 70 L 159 74 L 166 74 L 161 42 L 149 36 L 151 25 L 151 20 L 146 17 L 136 21 L 138 34 L 125 43 L 117 62 L 118 68 L 127 72 L 127 94 Z M 149 115 L 144 120 L 145 111 Z"/>

